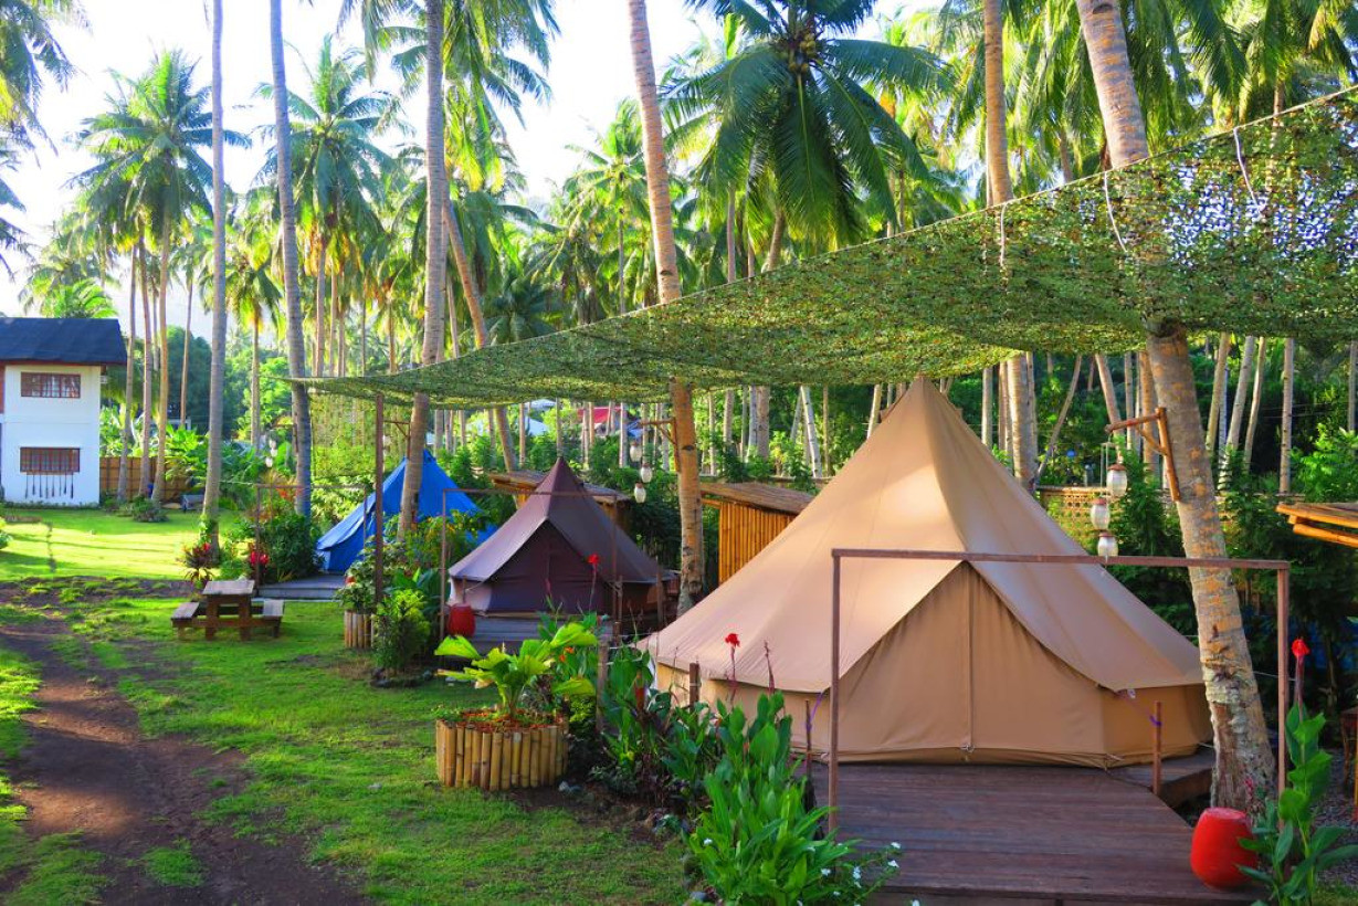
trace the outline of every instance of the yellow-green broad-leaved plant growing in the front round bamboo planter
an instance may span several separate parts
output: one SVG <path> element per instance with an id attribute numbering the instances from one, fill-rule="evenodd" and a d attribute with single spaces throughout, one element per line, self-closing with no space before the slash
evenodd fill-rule
<path id="1" fill-rule="evenodd" d="M 475 683 L 477 689 L 494 686 L 500 693 L 500 716 L 513 723 L 519 719 L 524 693 L 539 676 L 551 681 L 551 693 L 562 698 L 569 695 L 593 695 L 593 682 L 579 672 L 577 659 L 566 657 L 566 652 L 584 645 L 596 645 L 599 640 L 583 623 L 569 622 L 557 629 L 550 638 L 528 638 L 517 653 L 509 653 L 504 645 L 492 648 L 482 656 L 464 636 L 449 636 L 433 653 L 449 657 L 464 657 L 471 663 L 464 670 L 440 670 L 441 676 Z"/>

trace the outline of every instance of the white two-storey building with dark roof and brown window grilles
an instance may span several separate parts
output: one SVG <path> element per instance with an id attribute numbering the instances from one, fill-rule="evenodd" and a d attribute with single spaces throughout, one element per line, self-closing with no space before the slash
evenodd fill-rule
<path id="1" fill-rule="evenodd" d="M 99 503 L 99 387 L 126 363 L 115 319 L 0 318 L 0 493 Z"/>

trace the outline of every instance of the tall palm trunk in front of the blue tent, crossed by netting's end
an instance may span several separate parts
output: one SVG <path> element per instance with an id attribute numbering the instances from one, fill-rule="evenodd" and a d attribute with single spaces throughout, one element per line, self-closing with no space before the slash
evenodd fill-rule
<path id="1" fill-rule="evenodd" d="M 425 168 L 428 213 L 425 216 L 425 316 L 420 361 L 432 365 L 443 346 L 443 278 L 448 266 L 448 246 L 441 217 L 448 197 L 448 173 L 443 137 L 443 0 L 425 1 Z M 410 439 L 406 448 L 406 481 L 401 488 L 401 520 L 397 535 L 403 538 L 416 522 L 416 503 L 424 479 L 425 431 L 429 424 L 429 395 L 417 393 L 410 409 Z"/>

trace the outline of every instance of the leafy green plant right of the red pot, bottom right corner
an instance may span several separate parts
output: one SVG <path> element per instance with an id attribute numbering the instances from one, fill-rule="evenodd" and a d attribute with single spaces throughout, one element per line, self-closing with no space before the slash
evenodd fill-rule
<path id="1" fill-rule="evenodd" d="M 1329 781 L 1332 757 L 1320 747 L 1324 714 L 1306 717 L 1305 708 L 1287 712 L 1287 786 L 1270 800 L 1255 825 L 1255 838 L 1241 845 L 1259 853 L 1259 868 L 1243 868 L 1263 883 L 1268 902 L 1308 906 L 1319 892 L 1320 875 L 1346 860 L 1358 858 L 1358 845 L 1340 845 L 1342 827 L 1317 827 L 1316 807 Z"/>

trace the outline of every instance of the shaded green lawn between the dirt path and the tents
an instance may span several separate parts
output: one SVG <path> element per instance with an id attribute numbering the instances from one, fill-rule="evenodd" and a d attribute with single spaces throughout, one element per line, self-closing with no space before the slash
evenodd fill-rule
<path id="1" fill-rule="evenodd" d="M 117 671 L 147 732 L 246 755 L 253 782 L 219 800 L 212 819 L 265 838 L 300 835 L 310 857 L 337 864 L 379 902 L 684 899 L 678 844 L 540 800 L 439 786 L 433 710 L 486 693 L 443 682 L 373 689 L 369 659 L 341 647 L 334 604 L 289 603 L 282 637 L 253 642 L 175 641 L 171 609 L 113 600 L 72 622 Z M 164 663 L 143 671 L 148 659 Z"/>

